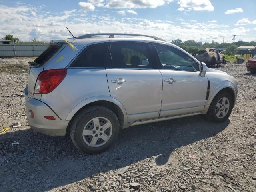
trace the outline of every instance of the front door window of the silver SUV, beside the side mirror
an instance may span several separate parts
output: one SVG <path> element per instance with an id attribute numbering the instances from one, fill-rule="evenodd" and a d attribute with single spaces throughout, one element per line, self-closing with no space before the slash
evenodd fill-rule
<path id="1" fill-rule="evenodd" d="M 155 46 L 161 62 L 160 68 L 198 71 L 198 63 L 181 50 L 162 44 L 155 44 Z"/>

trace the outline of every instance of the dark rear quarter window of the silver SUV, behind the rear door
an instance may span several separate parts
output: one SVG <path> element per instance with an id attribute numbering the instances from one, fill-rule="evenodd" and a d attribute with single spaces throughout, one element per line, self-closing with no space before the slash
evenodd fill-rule
<path id="1" fill-rule="evenodd" d="M 108 43 L 90 45 L 74 60 L 70 67 L 105 67 Z"/>

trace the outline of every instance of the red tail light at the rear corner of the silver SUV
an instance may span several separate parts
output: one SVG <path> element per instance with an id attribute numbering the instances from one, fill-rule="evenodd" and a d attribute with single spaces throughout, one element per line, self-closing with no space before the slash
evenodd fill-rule
<path id="1" fill-rule="evenodd" d="M 36 80 L 34 94 L 52 92 L 62 82 L 66 74 L 67 69 L 52 69 L 41 72 Z"/>

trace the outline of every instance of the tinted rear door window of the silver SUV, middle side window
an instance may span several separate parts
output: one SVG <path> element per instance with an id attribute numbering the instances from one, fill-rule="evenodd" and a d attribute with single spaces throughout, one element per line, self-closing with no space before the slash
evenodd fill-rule
<path id="1" fill-rule="evenodd" d="M 110 54 L 113 68 L 153 68 L 148 43 L 112 42 Z"/>

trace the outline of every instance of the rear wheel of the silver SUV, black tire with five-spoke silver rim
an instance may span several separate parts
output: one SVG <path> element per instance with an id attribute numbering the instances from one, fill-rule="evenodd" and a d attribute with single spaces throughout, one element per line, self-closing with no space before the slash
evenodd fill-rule
<path id="1" fill-rule="evenodd" d="M 71 123 L 71 140 L 80 151 L 97 154 L 110 148 L 119 134 L 119 121 L 112 110 L 103 106 L 82 109 Z"/>

